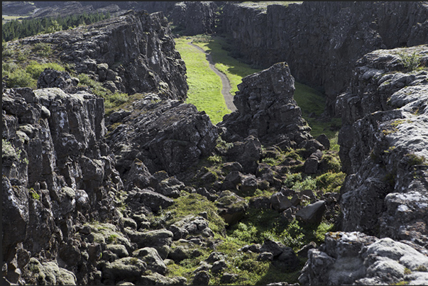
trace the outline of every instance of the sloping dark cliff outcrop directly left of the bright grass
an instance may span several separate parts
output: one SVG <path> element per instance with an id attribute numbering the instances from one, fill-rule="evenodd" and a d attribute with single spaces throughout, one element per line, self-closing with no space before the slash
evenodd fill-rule
<path id="1" fill-rule="evenodd" d="M 163 99 L 184 100 L 187 96 L 185 62 L 175 50 L 161 12 L 130 11 L 84 28 L 36 35 L 19 43 L 53 45 L 60 50 L 60 59 L 74 65 L 77 73 L 86 73 L 114 91 L 158 92 Z"/>

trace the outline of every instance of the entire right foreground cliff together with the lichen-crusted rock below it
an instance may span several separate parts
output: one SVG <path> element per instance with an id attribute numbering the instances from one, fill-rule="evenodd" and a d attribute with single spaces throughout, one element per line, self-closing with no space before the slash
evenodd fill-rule
<path id="1" fill-rule="evenodd" d="M 309 251 L 301 283 L 427 283 L 428 74 L 417 69 L 427 48 L 375 50 L 356 62 L 336 104 L 348 232 Z"/>

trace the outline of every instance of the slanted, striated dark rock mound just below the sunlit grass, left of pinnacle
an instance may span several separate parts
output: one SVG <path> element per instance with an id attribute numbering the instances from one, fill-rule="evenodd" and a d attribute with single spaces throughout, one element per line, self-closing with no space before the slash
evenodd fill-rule
<path id="1" fill-rule="evenodd" d="M 217 137 L 216 126 L 194 105 L 175 100 L 152 103 L 147 97 L 134 102 L 133 113 L 109 134 L 109 145 L 121 173 L 138 158 L 151 173 L 177 175 L 209 155 Z"/>

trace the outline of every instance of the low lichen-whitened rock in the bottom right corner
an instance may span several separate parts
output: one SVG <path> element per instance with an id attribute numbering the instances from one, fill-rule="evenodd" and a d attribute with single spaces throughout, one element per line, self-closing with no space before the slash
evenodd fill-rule
<path id="1" fill-rule="evenodd" d="M 410 241 L 376 238 L 358 231 L 327 233 L 319 249 L 310 249 L 302 285 L 424 285 L 427 250 Z M 407 271 L 405 271 L 407 268 Z M 410 271 L 408 271 L 410 270 Z"/>

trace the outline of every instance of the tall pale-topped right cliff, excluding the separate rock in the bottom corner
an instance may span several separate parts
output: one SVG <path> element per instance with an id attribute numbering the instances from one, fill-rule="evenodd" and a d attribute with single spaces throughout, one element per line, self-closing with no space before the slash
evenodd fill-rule
<path id="1" fill-rule="evenodd" d="M 343 229 L 427 243 L 418 227 L 427 201 L 427 82 L 407 71 L 400 53 L 426 65 L 427 45 L 376 50 L 358 60 L 337 109 L 340 157 L 348 176 L 341 189 Z M 414 54 L 415 53 L 415 54 Z M 422 205 L 421 205 L 422 206 Z"/>

